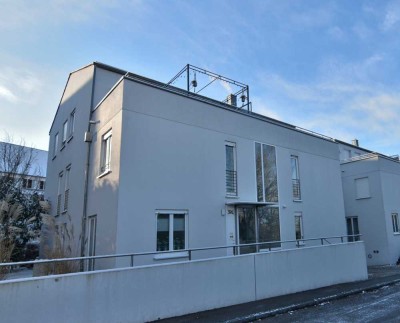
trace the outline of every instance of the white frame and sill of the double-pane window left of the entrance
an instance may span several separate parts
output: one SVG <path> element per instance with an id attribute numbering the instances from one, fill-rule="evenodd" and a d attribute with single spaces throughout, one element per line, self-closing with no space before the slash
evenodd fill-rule
<path id="1" fill-rule="evenodd" d="M 155 260 L 162 260 L 162 259 L 170 259 L 170 258 L 184 258 L 188 257 L 188 252 L 187 251 L 182 251 L 180 250 L 174 250 L 174 215 L 175 214 L 183 214 L 185 217 L 185 248 L 188 249 L 189 246 L 189 241 L 188 241 L 188 214 L 189 212 L 187 210 L 156 210 L 156 217 L 155 217 L 155 222 L 156 222 L 156 250 L 157 250 L 157 232 L 158 232 L 158 216 L 160 214 L 168 214 L 169 215 L 169 248 L 166 251 L 170 251 L 168 253 L 163 253 L 163 251 L 159 251 L 160 254 L 157 254 L 154 256 Z M 171 252 L 174 251 L 174 252 Z"/>

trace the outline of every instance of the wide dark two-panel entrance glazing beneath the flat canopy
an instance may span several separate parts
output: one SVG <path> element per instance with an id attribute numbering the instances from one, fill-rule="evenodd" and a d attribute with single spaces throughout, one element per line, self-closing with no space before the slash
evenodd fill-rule
<path id="1" fill-rule="evenodd" d="M 237 219 L 239 244 L 280 241 L 281 239 L 278 207 L 239 207 Z M 279 247 L 279 242 L 244 246 L 240 247 L 240 253 Z"/>

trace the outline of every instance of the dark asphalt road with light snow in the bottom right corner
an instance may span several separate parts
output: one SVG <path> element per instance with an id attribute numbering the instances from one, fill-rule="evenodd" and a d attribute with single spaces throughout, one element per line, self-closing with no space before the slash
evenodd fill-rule
<path id="1" fill-rule="evenodd" d="M 400 284 L 277 315 L 263 322 L 400 322 Z"/>

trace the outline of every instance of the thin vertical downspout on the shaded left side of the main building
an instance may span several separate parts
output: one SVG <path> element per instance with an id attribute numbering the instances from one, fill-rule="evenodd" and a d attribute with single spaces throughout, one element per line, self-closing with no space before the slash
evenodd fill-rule
<path id="1" fill-rule="evenodd" d="M 91 143 L 92 138 L 90 134 L 90 126 L 92 125 L 91 117 L 92 117 L 92 109 L 93 109 L 93 97 L 94 97 L 94 87 L 96 82 L 96 65 L 94 66 L 93 72 L 93 82 L 92 82 L 92 93 L 90 98 L 90 112 L 89 112 L 89 121 L 88 121 L 88 129 L 87 133 L 85 133 L 85 142 L 87 142 L 86 149 L 86 167 L 85 167 L 85 187 L 83 193 L 83 212 L 82 212 L 82 233 L 81 233 L 81 257 L 85 256 L 85 242 L 86 242 L 86 222 L 87 222 L 87 200 L 88 200 L 88 187 L 89 187 L 89 167 L 90 167 L 90 151 L 91 151 Z M 81 262 L 80 265 L 81 271 L 83 271 L 84 262 Z"/>

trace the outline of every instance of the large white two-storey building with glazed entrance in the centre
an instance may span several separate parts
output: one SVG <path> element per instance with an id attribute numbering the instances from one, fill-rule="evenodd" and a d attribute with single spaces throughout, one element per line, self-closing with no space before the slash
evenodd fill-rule
<path id="1" fill-rule="evenodd" d="M 333 139 L 93 63 L 70 74 L 50 129 L 46 198 L 59 223 L 70 215 L 85 255 L 179 258 L 186 248 L 342 236 L 337 149 Z M 207 255 L 222 252 L 232 250 Z"/>

